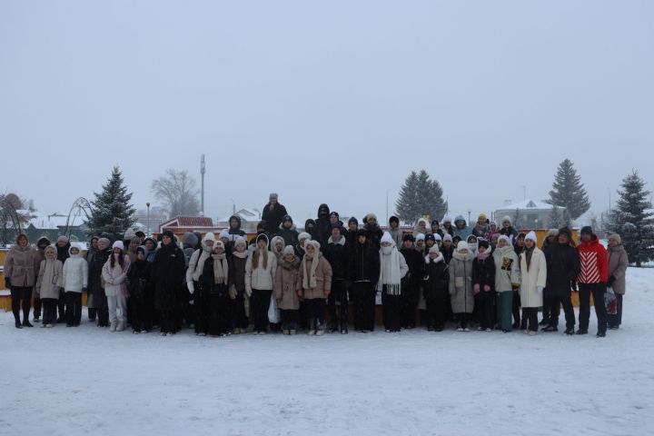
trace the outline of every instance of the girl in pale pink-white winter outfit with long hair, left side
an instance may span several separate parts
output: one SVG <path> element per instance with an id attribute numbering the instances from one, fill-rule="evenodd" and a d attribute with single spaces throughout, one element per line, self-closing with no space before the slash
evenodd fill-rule
<path id="1" fill-rule="evenodd" d="M 112 252 L 103 266 L 104 293 L 109 306 L 109 332 L 122 332 L 127 323 L 127 286 L 124 282 L 130 260 L 121 241 L 114 243 Z M 120 311 L 120 317 L 117 311 Z"/>

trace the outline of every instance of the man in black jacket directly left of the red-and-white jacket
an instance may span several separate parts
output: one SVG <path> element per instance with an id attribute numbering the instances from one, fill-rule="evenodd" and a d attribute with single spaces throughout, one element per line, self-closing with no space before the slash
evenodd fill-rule
<path id="1" fill-rule="evenodd" d="M 570 300 L 570 282 L 580 272 L 579 253 L 572 243 L 570 229 L 563 227 L 559 230 L 558 242 L 551 243 L 545 251 L 547 262 L 547 287 L 543 305 L 550 309 L 550 324 L 543 328 L 543 332 L 559 331 L 560 305 L 566 318 L 566 334 L 574 334 L 575 316 Z"/>

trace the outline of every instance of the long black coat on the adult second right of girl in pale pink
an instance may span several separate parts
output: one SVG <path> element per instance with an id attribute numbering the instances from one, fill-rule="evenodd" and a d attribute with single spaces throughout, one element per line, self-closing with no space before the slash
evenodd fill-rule
<path id="1" fill-rule="evenodd" d="M 184 280 L 184 253 L 174 242 L 163 245 L 154 255 L 152 280 L 154 304 L 164 312 L 177 307 L 177 293 Z"/>

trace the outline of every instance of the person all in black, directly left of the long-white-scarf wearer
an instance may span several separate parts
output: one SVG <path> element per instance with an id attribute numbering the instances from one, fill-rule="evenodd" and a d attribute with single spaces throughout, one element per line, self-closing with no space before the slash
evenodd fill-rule
<path id="1" fill-rule="evenodd" d="M 352 307 L 354 329 L 372 332 L 375 323 L 375 286 L 380 275 L 380 254 L 368 243 L 368 232 L 360 229 L 352 249 Z"/>

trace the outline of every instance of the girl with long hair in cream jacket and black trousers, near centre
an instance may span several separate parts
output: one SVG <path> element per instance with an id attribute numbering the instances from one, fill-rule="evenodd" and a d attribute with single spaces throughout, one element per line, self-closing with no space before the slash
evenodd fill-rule
<path id="1" fill-rule="evenodd" d="M 245 292 L 250 297 L 254 334 L 266 334 L 277 256 L 268 250 L 268 237 L 256 237 L 256 246 L 245 264 Z"/>

